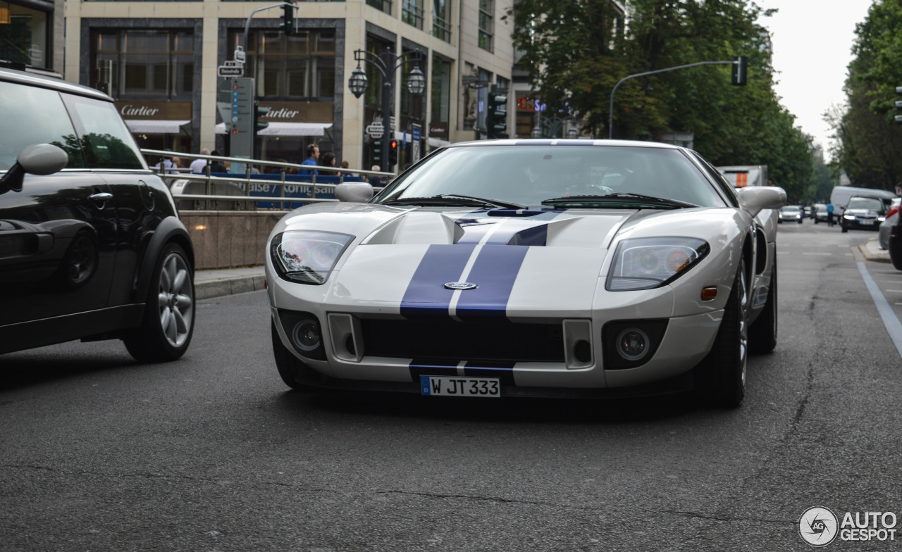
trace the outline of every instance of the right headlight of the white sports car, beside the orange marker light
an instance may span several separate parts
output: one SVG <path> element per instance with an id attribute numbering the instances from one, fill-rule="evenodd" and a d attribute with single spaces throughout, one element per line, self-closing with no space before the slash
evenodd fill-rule
<path id="1" fill-rule="evenodd" d="M 605 288 L 650 290 L 676 280 L 711 251 L 704 240 L 686 237 L 623 240 L 614 252 Z"/>

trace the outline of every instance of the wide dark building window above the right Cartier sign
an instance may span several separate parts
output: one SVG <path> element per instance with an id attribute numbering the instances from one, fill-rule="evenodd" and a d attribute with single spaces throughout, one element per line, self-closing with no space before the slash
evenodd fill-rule
<path id="1" fill-rule="evenodd" d="M 229 50 L 235 50 L 244 31 L 230 31 Z M 336 39 L 334 29 L 301 31 L 287 36 L 276 30 L 251 31 L 247 76 L 255 78 L 256 95 L 267 99 L 303 98 L 331 102 L 336 95 Z"/>

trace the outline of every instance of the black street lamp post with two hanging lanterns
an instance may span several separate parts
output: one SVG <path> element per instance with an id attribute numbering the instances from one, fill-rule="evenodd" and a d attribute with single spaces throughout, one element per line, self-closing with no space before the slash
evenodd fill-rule
<path id="1" fill-rule="evenodd" d="M 375 54 L 372 51 L 355 50 L 354 60 L 357 61 L 357 69 L 351 73 L 351 78 L 347 81 L 347 86 L 351 89 L 351 93 L 355 97 L 363 96 L 367 87 L 367 78 L 363 69 L 360 69 L 360 62 L 369 63 L 382 76 L 382 128 L 383 133 L 391 134 L 391 88 L 394 80 L 395 71 L 408 63 L 419 63 L 422 55 L 419 51 L 410 51 L 400 56 L 391 50 L 383 51 L 382 54 Z M 422 94 L 426 90 L 426 77 L 423 71 L 419 70 L 419 66 L 414 66 L 407 78 L 407 90 L 410 94 Z M 389 143 L 392 136 L 387 136 L 382 140 L 382 162 L 391 163 L 389 157 Z M 388 172 L 391 172 L 391 164 L 388 166 Z M 384 169 L 384 168 L 383 168 Z"/>

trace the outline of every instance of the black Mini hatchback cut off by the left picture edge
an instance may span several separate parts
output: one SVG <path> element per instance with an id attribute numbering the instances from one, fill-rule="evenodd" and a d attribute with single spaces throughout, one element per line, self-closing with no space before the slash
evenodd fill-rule
<path id="1" fill-rule="evenodd" d="M 187 350 L 194 248 L 113 101 L 0 69 L 0 353 L 122 339 L 146 362 Z"/>

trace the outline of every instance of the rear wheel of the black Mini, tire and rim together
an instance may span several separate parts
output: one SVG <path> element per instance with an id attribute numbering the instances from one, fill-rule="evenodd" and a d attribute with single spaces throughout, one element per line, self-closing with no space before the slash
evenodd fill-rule
<path id="1" fill-rule="evenodd" d="M 142 325 L 124 337 L 125 348 L 144 363 L 174 361 L 188 350 L 194 315 L 194 269 L 179 244 L 167 244 L 153 266 Z"/>

